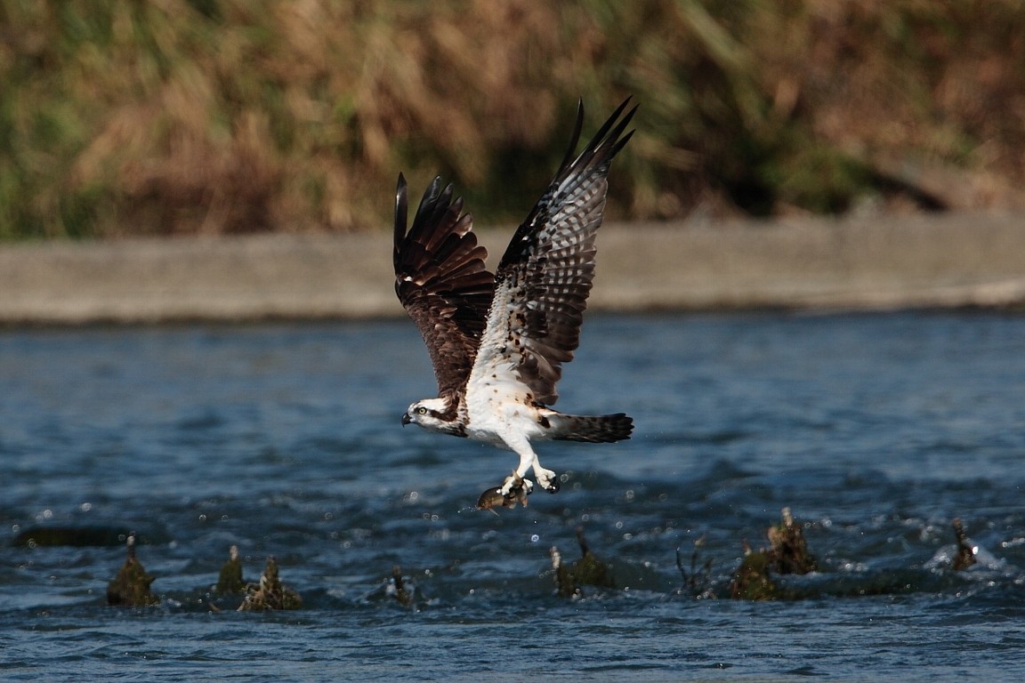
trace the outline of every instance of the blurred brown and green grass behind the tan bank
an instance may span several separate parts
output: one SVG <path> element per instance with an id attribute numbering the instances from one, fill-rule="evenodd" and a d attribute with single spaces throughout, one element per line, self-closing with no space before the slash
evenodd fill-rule
<path id="1" fill-rule="evenodd" d="M 614 218 L 1022 206 L 1020 0 L 0 0 L 0 238 L 517 222 L 626 95 Z"/>

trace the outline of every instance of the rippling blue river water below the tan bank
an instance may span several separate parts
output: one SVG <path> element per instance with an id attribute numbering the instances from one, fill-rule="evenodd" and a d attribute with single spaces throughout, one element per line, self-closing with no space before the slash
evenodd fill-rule
<path id="1" fill-rule="evenodd" d="M 591 315 L 560 388 L 636 437 L 539 444 L 563 489 L 494 514 L 511 454 L 400 426 L 408 322 L 0 331 L 0 679 L 1025 677 L 1025 317 Z M 731 600 L 784 506 L 821 571 Z M 116 543 L 13 545 L 56 526 L 134 530 L 160 604 L 107 606 Z M 578 526 L 616 588 L 563 599 Z M 303 608 L 211 593 L 233 544 Z"/>

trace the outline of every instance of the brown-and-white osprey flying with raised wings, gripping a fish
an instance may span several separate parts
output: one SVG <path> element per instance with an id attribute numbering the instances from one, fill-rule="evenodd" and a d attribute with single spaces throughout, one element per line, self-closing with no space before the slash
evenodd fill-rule
<path id="1" fill-rule="evenodd" d="M 577 108 L 569 151 L 548 189 L 520 225 L 495 273 L 477 244 L 473 217 L 452 185 L 436 177 L 406 231 L 406 179 L 395 197 L 395 289 L 430 353 L 438 397 L 418 400 L 402 424 L 462 436 L 515 452 L 519 465 L 480 507 L 525 503 L 533 483 L 556 493 L 556 473 L 538 462 L 531 441 L 608 442 L 629 438 L 623 413 L 565 415 L 550 408 L 562 364 L 573 358 L 594 276 L 594 237 L 602 224 L 612 158 L 637 106 L 629 98 L 609 117 L 576 158 L 583 125 Z M 622 117 L 622 118 L 620 118 Z"/>

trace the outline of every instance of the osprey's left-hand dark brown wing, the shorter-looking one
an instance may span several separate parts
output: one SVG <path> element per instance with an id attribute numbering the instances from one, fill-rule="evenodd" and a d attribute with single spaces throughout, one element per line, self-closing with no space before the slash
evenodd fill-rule
<path id="1" fill-rule="evenodd" d="M 474 219 L 452 201 L 452 185 L 435 178 L 423 194 L 406 232 L 406 179 L 395 193 L 395 291 L 423 337 L 447 396 L 466 383 L 494 293 L 494 275 L 485 268 L 488 252 L 477 244 Z"/>

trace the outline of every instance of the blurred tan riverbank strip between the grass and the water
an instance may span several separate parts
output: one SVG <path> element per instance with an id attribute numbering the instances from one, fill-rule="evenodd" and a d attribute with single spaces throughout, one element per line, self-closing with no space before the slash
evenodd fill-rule
<path id="1" fill-rule="evenodd" d="M 501 254 L 511 230 L 483 230 Z M 391 234 L 258 234 L 0 246 L 0 323 L 402 314 Z M 596 309 L 876 310 L 1025 305 L 1025 215 L 612 223 Z"/>

